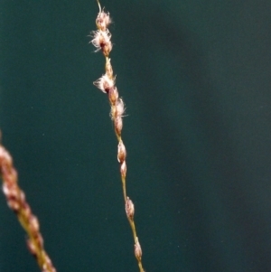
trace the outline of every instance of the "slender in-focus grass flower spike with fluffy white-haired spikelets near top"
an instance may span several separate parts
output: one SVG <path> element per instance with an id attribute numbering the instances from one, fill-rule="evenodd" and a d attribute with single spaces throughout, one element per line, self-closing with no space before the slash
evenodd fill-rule
<path id="1" fill-rule="evenodd" d="M 134 203 L 127 197 L 126 195 L 126 146 L 123 143 L 121 138 L 121 131 L 123 128 L 123 120 L 122 117 L 125 112 L 125 106 L 122 98 L 118 97 L 118 91 L 115 84 L 116 77 L 113 74 L 113 68 L 111 65 L 111 61 L 109 59 L 109 53 L 112 50 L 112 42 L 111 42 L 111 33 L 107 29 L 107 26 L 111 23 L 111 18 L 109 13 L 105 13 L 104 10 L 101 9 L 101 6 L 98 3 L 98 16 L 96 19 L 96 25 L 98 30 L 92 32 L 93 39 L 91 43 L 97 48 L 96 52 L 101 51 L 106 58 L 105 70 L 106 73 L 102 75 L 102 77 L 94 82 L 94 85 L 98 87 L 102 92 L 107 93 L 110 106 L 111 113 L 110 116 L 113 120 L 115 133 L 117 136 L 117 160 L 120 164 L 120 174 L 123 188 L 123 196 L 126 207 L 126 216 L 131 226 L 133 237 L 135 241 L 135 258 L 137 259 L 138 267 L 140 272 L 144 272 L 142 266 L 142 249 L 139 244 L 138 237 L 135 231 L 135 206 Z"/>

